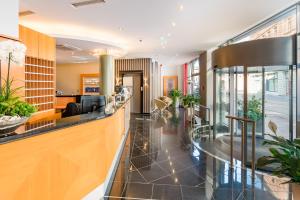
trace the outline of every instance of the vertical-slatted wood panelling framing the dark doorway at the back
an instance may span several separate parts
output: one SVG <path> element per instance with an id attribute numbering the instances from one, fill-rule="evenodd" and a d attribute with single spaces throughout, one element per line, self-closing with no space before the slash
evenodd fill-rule
<path id="1" fill-rule="evenodd" d="M 116 59 L 115 60 L 115 75 L 116 80 L 121 80 L 120 72 L 143 72 L 143 112 L 150 113 L 151 111 L 151 85 L 150 85 L 150 69 L 152 66 L 151 58 L 138 59 Z M 116 83 L 117 85 L 118 83 Z"/>

